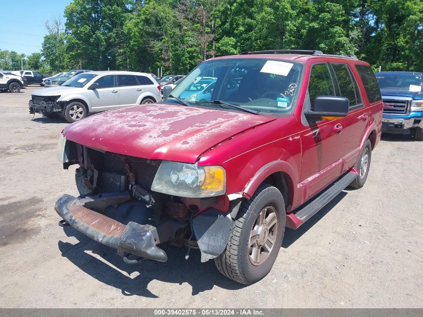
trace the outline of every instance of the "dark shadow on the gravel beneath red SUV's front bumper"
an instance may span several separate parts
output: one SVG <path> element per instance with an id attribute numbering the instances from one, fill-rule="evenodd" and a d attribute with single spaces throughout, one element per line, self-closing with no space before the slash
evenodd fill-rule
<path id="1" fill-rule="evenodd" d="M 192 287 L 192 295 L 210 290 L 214 285 L 232 290 L 246 286 L 221 275 L 213 260 L 201 263 L 198 249 L 191 249 L 189 259 L 185 260 L 185 248 L 165 243 L 161 247 L 168 255 L 167 262 L 161 263 L 147 259 L 136 265 L 128 265 L 123 262 L 121 256 L 116 254 L 114 249 L 91 240 L 72 227 L 65 227 L 64 231 L 68 236 L 75 236 L 80 242 L 72 244 L 59 241 L 58 245 L 62 256 L 68 258 L 81 270 L 100 282 L 120 289 L 125 296 L 159 297 L 148 289 L 148 284 L 152 280 L 180 285 L 189 283 Z M 111 265 L 104 263 L 90 253 L 98 254 Z M 128 277 L 113 266 L 129 275 L 138 273 L 139 275 Z M 177 297 L 178 295 L 175 294 L 175 299 Z"/>

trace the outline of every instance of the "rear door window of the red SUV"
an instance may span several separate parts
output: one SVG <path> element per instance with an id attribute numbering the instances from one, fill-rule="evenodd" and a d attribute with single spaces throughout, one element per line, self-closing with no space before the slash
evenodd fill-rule
<path id="1" fill-rule="evenodd" d="M 355 79 L 353 79 L 348 66 L 345 64 L 331 65 L 338 83 L 339 96 L 347 98 L 349 100 L 350 107 L 361 104 L 357 83 L 355 82 Z"/>

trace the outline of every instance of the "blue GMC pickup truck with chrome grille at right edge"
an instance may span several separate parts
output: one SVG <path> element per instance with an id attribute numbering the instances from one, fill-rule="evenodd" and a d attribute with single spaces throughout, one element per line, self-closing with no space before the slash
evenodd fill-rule
<path id="1" fill-rule="evenodd" d="M 383 99 L 382 132 L 404 133 L 423 141 L 423 73 L 375 73 Z"/>

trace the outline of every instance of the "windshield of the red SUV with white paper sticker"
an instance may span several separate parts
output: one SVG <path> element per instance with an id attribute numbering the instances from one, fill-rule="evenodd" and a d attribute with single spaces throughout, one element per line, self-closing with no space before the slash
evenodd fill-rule
<path id="1" fill-rule="evenodd" d="M 252 111 L 288 113 L 300 88 L 301 71 L 302 63 L 281 60 L 204 62 L 175 87 L 165 102 L 179 98 L 192 105 L 233 109 L 228 104 L 234 104 Z"/>

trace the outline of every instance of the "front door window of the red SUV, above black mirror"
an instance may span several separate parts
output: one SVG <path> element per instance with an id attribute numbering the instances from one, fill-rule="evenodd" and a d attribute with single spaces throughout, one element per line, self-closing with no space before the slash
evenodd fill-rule
<path id="1" fill-rule="evenodd" d="M 314 98 L 317 96 L 335 96 L 329 68 L 326 64 L 315 64 L 311 68 L 308 94 L 310 95 L 311 109 L 313 109 Z"/>

